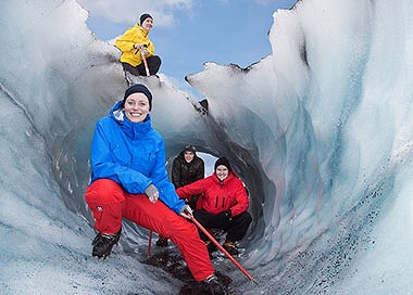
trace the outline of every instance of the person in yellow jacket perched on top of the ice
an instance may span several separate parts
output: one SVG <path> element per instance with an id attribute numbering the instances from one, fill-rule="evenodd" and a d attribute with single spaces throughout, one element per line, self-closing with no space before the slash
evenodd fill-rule
<path id="1" fill-rule="evenodd" d="M 161 59 L 154 55 L 154 44 L 148 38 L 153 27 L 153 17 L 143 13 L 140 24 L 128 28 L 124 35 L 115 40 L 115 47 L 122 51 L 121 63 L 125 70 L 135 76 L 147 76 L 141 53 L 148 62 L 150 75 L 155 75 L 161 66 Z"/>

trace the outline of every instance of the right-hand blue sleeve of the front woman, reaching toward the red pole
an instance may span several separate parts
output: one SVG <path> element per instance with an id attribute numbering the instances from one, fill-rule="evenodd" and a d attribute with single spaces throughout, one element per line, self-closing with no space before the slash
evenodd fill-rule
<path id="1" fill-rule="evenodd" d="M 176 214 L 179 214 L 180 209 L 185 206 L 185 201 L 179 200 L 175 192 L 174 184 L 172 184 L 167 178 L 165 168 L 165 146 L 161 137 L 159 138 L 157 145 L 155 165 L 153 167 L 151 179 L 153 184 L 158 188 L 159 198 Z"/>

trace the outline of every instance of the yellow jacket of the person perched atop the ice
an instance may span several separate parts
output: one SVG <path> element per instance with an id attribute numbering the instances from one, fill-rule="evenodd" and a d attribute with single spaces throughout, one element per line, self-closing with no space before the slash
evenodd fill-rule
<path id="1" fill-rule="evenodd" d="M 122 51 L 121 62 L 128 63 L 132 66 L 137 66 L 142 63 L 140 51 L 134 48 L 136 43 L 147 46 L 146 50 L 149 53 L 146 57 L 150 57 L 154 54 L 154 44 L 149 40 L 148 31 L 139 26 L 139 24 L 136 24 L 115 40 L 115 47 Z"/>

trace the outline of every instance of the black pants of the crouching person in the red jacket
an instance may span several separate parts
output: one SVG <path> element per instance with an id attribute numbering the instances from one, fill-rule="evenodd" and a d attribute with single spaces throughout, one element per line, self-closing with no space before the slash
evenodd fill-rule
<path id="1" fill-rule="evenodd" d="M 229 221 L 226 218 L 221 218 L 205 210 L 195 210 L 193 217 L 206 229 L 222 229 L 226 231 L 226 240 L 231 242 L 241 240 L 252 221 L 252 217 L 248 211 L 234 216 Z M 203 232 L 199 231 L 199 234 L 203 241 L 209 240 Z"/>

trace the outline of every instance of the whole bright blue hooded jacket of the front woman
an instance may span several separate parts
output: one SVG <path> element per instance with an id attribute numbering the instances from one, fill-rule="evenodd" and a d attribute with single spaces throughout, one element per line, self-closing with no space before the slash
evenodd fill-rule
<path id="1" fill-rule="evenodd" d="M 165 169 L 165 146 L 161 134 L 151 126 L 150 115 L 142 123 L 128 120 L 117 102 L 96 124 L 91 143 L 91 182 L 112 179 L 132 194 L 141 194 L 153 183 L 159 198 L 179 214 L 185 202 L 179 200 Z"/>

